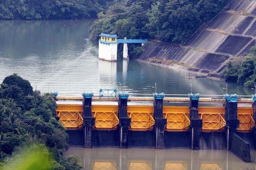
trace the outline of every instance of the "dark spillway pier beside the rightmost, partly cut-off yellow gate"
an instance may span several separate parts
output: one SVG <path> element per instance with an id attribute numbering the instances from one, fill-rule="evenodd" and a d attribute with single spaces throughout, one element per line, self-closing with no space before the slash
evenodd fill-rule
<path id="1" fill-rule="evenodd" d="M 231 144 L 230 136 L 235 134 L 239 127 L 239 120 L 237 120 L 237 94 L 225 94 L 225 134 L 227 139 L 227 149 Z"/>

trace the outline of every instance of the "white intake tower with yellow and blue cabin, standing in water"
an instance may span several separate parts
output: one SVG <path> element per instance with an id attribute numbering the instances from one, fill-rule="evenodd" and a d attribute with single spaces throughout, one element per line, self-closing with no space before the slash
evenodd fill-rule
<path id="1" fill-rule="evenodd" d="M 117 35 L 101 33 L 99 39 L 99 59 L 117 60 Z"/>

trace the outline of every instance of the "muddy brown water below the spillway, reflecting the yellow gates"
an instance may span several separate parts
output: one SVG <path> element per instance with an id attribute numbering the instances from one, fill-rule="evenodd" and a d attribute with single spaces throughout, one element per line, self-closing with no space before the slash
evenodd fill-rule
<path id="1" fill-rule="evenodd" d="M 244 163 L 225 150 L 92 148 L 71 147 L 66 155 L 78 154 L 84 169 L 255 169 L 254 163 Z M 255 155 L 254 155 L 255 156 Z"/>

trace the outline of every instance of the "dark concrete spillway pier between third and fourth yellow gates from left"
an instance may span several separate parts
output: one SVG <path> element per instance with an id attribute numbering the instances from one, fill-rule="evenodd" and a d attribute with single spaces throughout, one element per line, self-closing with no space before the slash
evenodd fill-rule
<path id="1" fill-rule="evenodd" d="M 164 127 L 166 119 L 163 116 L 163 99 L 164 93 L 154 93 L 154 119 L 155 119 L 155 134 L 156 134 L 156 149 L 164 149 Z"/>

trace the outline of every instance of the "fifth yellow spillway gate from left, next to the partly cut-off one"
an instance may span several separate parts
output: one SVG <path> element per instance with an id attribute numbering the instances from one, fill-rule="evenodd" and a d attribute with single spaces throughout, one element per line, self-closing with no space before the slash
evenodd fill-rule
<path id="1" fill-rule="evenodd" d="M 222 131 L 226 126 L 225 107 L 198 107 L 198 114 L 203 119 L 202 131 Z"/>

